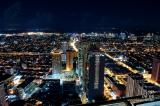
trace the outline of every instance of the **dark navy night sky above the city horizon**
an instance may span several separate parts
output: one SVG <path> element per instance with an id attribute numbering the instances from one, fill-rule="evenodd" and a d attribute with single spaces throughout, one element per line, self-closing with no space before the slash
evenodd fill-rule
<path id="1" fill-rule="evenodd" d="M 0 28 L 160 31 L 160 3 L 154 0 L 1 0 Z"/>

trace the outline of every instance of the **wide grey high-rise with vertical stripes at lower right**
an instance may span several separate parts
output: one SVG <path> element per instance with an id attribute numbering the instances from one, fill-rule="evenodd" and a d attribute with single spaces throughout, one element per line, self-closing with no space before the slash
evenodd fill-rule
<path id="1" fill-rule="evenodd" d="M 129 74 L 127 79 L 126 96 L 140 96 L 150 95 L 153 93 L 159 93 L 160 87 L 151 84 L 143 79 L 143 76 L 139 74 Z"/>

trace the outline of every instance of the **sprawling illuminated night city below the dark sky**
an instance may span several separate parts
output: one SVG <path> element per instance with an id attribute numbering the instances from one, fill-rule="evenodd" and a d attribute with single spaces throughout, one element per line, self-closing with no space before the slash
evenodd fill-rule
<path id="1" fill-rule="evenodd" d="M 160 34 L 141 34 L 0 33 L 0 104 L 158 104 Z"/>

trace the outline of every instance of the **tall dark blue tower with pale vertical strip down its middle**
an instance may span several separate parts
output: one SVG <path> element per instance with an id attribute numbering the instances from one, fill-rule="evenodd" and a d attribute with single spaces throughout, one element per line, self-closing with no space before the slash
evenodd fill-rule
<path id="1" fill-rule="evenodd" d="M 104 55 L 99 51 L 88 53 L 88 65 L 86 70 L 86 94 L 89 101 L 103 97 L 104 92 Z"/>

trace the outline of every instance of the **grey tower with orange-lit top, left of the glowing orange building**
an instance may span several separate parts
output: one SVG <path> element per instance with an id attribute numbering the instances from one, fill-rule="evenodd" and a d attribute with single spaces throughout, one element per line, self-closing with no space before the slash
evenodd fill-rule
<path id="1" fill-rule="evenodd" d="M 61 52 L 55 50 L 52 52 L 52 74 L 60 74 L 61 66 Z"/>

